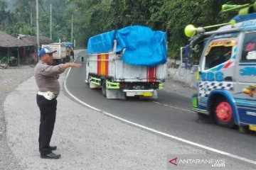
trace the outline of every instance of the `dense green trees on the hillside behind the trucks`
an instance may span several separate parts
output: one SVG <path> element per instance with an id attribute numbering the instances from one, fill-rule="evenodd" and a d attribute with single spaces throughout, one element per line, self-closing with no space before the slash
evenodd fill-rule
<path id="1" fill-rule="evenodd" d="M 129 25 L 168 30 L 169 56 L 178 57 L 179 47 L 188 43 L 186 25 L 210 26 L 225 23 L 235 13 L 219 14 L 223 4 L 247 4 L 254 0 L 38 0 L 41 35 L 50 37 L 50 4 L 53 8 L 53 40 L 73 39 L 85 47 L 92 35 Z M 18 0 L 13 11 L 6 11 L 0 0 L 0 30 L 6 33 L 36 35 L 36 0 Z M 32 20 L 31 20 L 32 18 Z M 118 23 L 118 24 L 116 24 Z"/>

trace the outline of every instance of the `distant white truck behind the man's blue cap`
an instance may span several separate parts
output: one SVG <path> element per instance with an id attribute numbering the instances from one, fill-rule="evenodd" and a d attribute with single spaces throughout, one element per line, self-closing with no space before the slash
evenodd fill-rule
<path id="1" fill-rule="evenodd" d="M 60 64 L 66 62 L 66 47 L 63 43 L 51 43 L 48 45 L 42 45 L 43 47 L 50 47 L 51 50 L 57 50 L 53 53 L 53 64 Z"/>

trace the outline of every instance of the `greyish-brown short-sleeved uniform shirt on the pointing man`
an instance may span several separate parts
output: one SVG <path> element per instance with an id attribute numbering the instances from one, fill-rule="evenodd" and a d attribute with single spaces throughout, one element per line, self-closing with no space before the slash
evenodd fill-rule
<path id="1" fill-rule="evenodd" d="M 39 60 L 35 67 L 35 79 L 38 89 L 41 92 L 51 91 L 53 94 L 60 93 L 60 84 L 57 74 L 63 73 L 63 64 L 51 66 Z"/>

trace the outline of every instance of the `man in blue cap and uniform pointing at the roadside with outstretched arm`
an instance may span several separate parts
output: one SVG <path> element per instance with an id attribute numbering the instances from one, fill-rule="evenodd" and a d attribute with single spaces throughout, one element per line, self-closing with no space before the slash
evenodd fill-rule
<path id="1" fill-rule="evenodd" d="M 39 52 L 40 60 L 35 67 L 35 79 L 38 86 L 36 102 L 41 113 L 38 142 L 39 152 L 43 159 L 60 158 L 60 154 L 53 153 L 57 147 L 50 147 L 56 117 L 56 98 L 60 93 L 59 74 L 68 67 L 80 67 L 80 64 L 75 63 L 50 65 L 53 63 L 53 52 L 56 51 L 50 50 L 50 47 L 42 48 Z"/>

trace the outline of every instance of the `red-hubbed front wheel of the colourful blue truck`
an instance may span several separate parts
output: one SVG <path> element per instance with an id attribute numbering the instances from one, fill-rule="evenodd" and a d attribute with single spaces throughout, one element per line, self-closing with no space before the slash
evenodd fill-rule
<path id="1" fill-rule="evenodd" d="M 215 104 L 214 115 L 218 125 L 225 128 L 233 128 L 235 126 L 233 110 L 226 99 L 222 99 Z"/>

